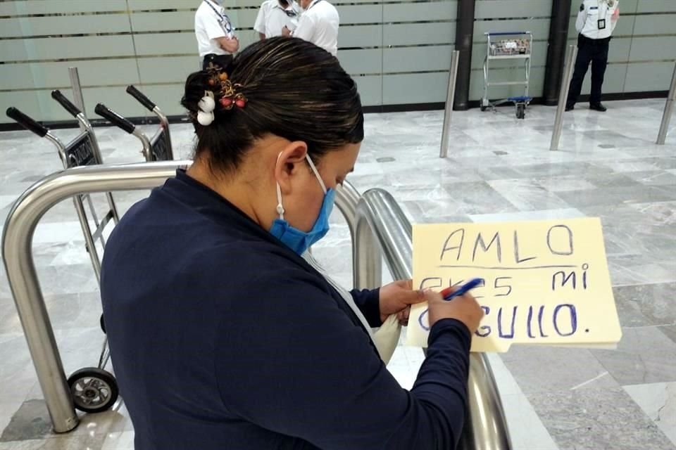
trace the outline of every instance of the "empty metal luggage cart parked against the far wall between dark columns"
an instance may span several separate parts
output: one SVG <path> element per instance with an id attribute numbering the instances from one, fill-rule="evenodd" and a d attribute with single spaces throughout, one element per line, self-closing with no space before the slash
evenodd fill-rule
<path id="1" fill-rule="evenodd" d="M 530 82 L 530 60 L 532 56 L 533 34 L 530 31 L 522 32 L 487 32 L 486 58 L 484 58 L 484 94 L 481 99 L 481 110 L 494 108 L 504 103 L 514 103 L 517 119 L 526 117 L 526 108 L 532 97 L 528 96 Z M 489 81 L 490 62 L 492 60 L 522 60 L 525 70 L 525 79 L 514 82 Z M 504 98 L 503 100 L 489 101 L 488 89 L 490 86 L 524 86 L 522 96 Z"/>

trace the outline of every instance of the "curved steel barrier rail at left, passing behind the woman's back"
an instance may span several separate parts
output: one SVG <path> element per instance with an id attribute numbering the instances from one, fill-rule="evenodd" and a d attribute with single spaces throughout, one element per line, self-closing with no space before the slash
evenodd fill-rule
<path id="1" fill-rule="evenodd" d="M 39 219 L 56 203 L 73 195 L 154 188 L 174 176 L 177 168 L 190 164 L 190 161 L 172 161 L 66 169 L 31 186 L 8 214 L 2 236 L 3 260 L 55 432 L 73 430 L 78 419 L 32 256 L 32 239 Z M 356 189 L 348 183 L 337 189 L 335 203 L 344 214 L 352 236 L 356 229 L 358 198 Z M 373 250 L 373 259 L 377 259 L 377 276 L 380 277 L 380 252 L 377 247 Z"/>

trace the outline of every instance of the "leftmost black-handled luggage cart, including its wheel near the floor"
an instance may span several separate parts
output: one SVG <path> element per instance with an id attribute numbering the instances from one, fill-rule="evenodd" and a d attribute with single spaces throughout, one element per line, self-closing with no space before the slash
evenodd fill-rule
<path id="1" fill-rule="evenodd" d="M 8 108 L 6 114 L 28 131 L 32 131 L 37 136 L 46 137 L 54 143 L 64 169 L 102 164 L 101 150 L 96 142 L 96 136 L 94 136 L 94 131 L 89 120 L 60 91 L 52 91 L 51 96 L 84 127 L 84 131 L 68 144 L 64 145 L 60 139 L 51 134 L 48 128 L 21 113 L 16 108 Z M 115 206 L 113 195 L 108 192 L 105 193 L 105 196 L 108 203 L 108 211 L 101 219 L 99 219 L 99 215 L 96 213 L 96 207 L 94 207 L 94 202 L 89 194 L 75 195 L 73 197 L 77 219 L 82 227 L 85 250 L 89 253 L 89 259 L 94 267 L 94 274 L 96 274 L 96 281 L 99 285 L 101 283 L 101 257 L 99 257 L 96 243 L 97 241 L 100 242 L 101 248 L 105 248 L 106 238 L 104 231 L 106 225 L 111 221 L 113 221 L 113 224 L 117 224 L 119 221 L 118 210 Z M 90 220 L 94 222 L 94 231 L 92 231 L 92 227 L 89 225 Z M 105 333 L 103 316 L 101 316 L 101 328 L 104 329 Z M 101 349 L 101 356 L 99 356 L 99 364 L 96 367 L 81 368 L 68 377 L 68 387 L 70 387 L 70 394 L 73 397 L 75 408 L 85 413 L 98 413 L 110 409 L 115 404 L 119 395 L 118 383 L 113 374 L 105 370 L 110 357 L 108 338 L 106 337 Z"/>

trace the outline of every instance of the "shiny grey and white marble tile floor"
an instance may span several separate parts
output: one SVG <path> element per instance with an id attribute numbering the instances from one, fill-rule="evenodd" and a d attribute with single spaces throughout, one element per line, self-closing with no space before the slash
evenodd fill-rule
<path id="1" fill-rule="evenodd" d="M 512 347 L 489 355 L 516 450 L 676 449 L 676 129 L 656 139 L 663 100 L 584 105 L 566 113 L 549 151 L 554 109 L 453 113 L 439 160 L 442 112 L 368 115 L 350 181 L 385 188 L 412 222 L 601 217 L 623 338 L 616 350 Z M 152 127 L 149 127 L 149 131 Z M 76 130 L 56 130 L 70 139 Z M 96 129 L 106 162 L 140 162 L 132 136 Z M 192 128 L 172 128 L 187 158 Z M 0 134 L 0 223 L 28 186 L 60 169 L 54 147 L 27 132 Z M 146 193 L 115 195 L 126 210 Z M 330 258 L 339 250 L 342 259 Z M 93 366 L 102 342 L 96 281 L 70 202 L 56 205 L 33 243 L 67 373 Z M 339 213 L 315 255 L 351 285 L 350 238 Z M 384 281 L 389 277 L 386 275 Z M 400 346 L 389 364 L 411 387 L 423 354 Z M 0 450 L 133 449 L 122 401 L 51 433 L 6 274 L 0 272 Z"/>

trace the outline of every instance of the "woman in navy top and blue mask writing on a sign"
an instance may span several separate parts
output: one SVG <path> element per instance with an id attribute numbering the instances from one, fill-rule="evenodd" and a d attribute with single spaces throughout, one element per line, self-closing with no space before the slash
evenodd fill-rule
<path id="1" fill-rule="evenodd" d="M 356 84 L 326 51 L 273 38 L 190 75 L 194 164 L 134 205 L 101 278 L 115 374 L 146 449 L 451 449 L 465 417 L 465 295 L 352 291 L 368 325 L 430 304 L 403 390 L 355 310 L 301 254 L 322 238 L 363 140 Z"/>

